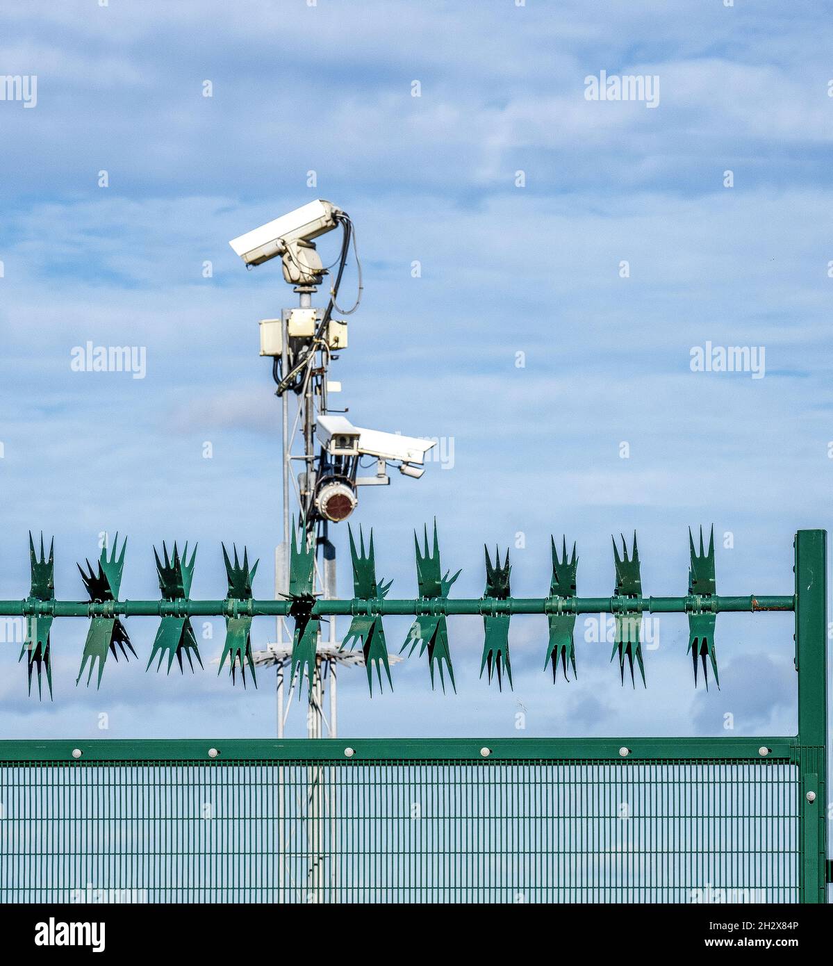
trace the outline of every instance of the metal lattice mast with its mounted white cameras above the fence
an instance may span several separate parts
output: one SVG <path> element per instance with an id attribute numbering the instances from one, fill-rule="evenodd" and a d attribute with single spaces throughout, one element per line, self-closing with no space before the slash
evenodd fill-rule
<path id="1" fill-rule="evenodd" d="M 314 243 L 327 232 L 342 229 L 339 256 L 323 266 Z M 343 414 L 332 413 L 327 405 L 328 392 L 340 386 L 328 384 L 327 373 L 333 354 L 347 348 L 347 323 L 333 313 L 349 315 L 361 300 L 361 266 L 356 255 L 355 233 L 346 212 L 319 198 L 294 211 L 246 232 L 230 242 L 236 254 L 252 268 L 280 258 L 284 280 L 293 286 L 298 305 L 283 309 L 280 319 L 261 321 L 261 355 L 272 359 L 272 375 L 282 403 L 283 466 L 283 542 L 275 551 L 275 598 L 283 600 L 290 587 L 292 514 L 291 489 L 295 490 L 298 513 L 303 521 L 307 549 L 315 548 L 313 592 L 324 600 L 336 597 L 336 550 L 329 539 L 329 524 L 347 519 L 355 508 L 357 488 L 387 485 L 389 462 L 399 465 L 403 475 L 419 478 L 430 440 L 405 437 L 352 426 Z M 347 265 L 350 244 L 358 274 L 358 295 L 351 308 L 339 307 L 337 298 Z M 332 270 L 329 302 L 324 309 L 313 308 L 325 275 Z M 294 415 L 291 395 L 297 398 Z M 342 412 L 347 412 L 342 411 Z M 303 440 L 303 452 L 293 453 L 295 434 Z M 319 450 L 317 453 L 316 450 Z M 374 476 L 358 476 L 360 461 L 376 460 Z M 303 464 L 297 476 L 293 461 Z M 276 643 L 253 655 L 256 666 L 276 668 L 277 731 L 284 736 L 290 702 L 285 699 L 285 669 L 291 666 L 292 634 L 286 618 L 276 620 Z M 345 655 L 339 650 L 335 616 L 330 617 L 326 645 L 317 639 L 316 673 L 309 694 L 308 737 L 336 736 L 336 665 L 364 664 L 360 652 Z M 300 682 L 289 681 L 289 696 Z M 324 713 L 325 692 L 329 687 L 330 714 Z"/>

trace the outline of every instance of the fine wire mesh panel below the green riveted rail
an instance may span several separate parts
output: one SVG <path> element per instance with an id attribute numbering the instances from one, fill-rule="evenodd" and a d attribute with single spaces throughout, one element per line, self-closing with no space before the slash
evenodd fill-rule
<path id="1" fill-rule="evenodd" d="M 796 782 L 713 759 L 6 763 L 0 899 L 792 902 Z"/>

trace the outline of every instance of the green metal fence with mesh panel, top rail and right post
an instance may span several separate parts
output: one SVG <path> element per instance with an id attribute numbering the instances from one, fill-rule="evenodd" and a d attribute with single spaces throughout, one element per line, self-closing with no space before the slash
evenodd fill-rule
<path id="1" fill-rule="evenodd" d="M 796 736 L 0 742 L 0 897 L 824 901 L 825 556 Z"/>

